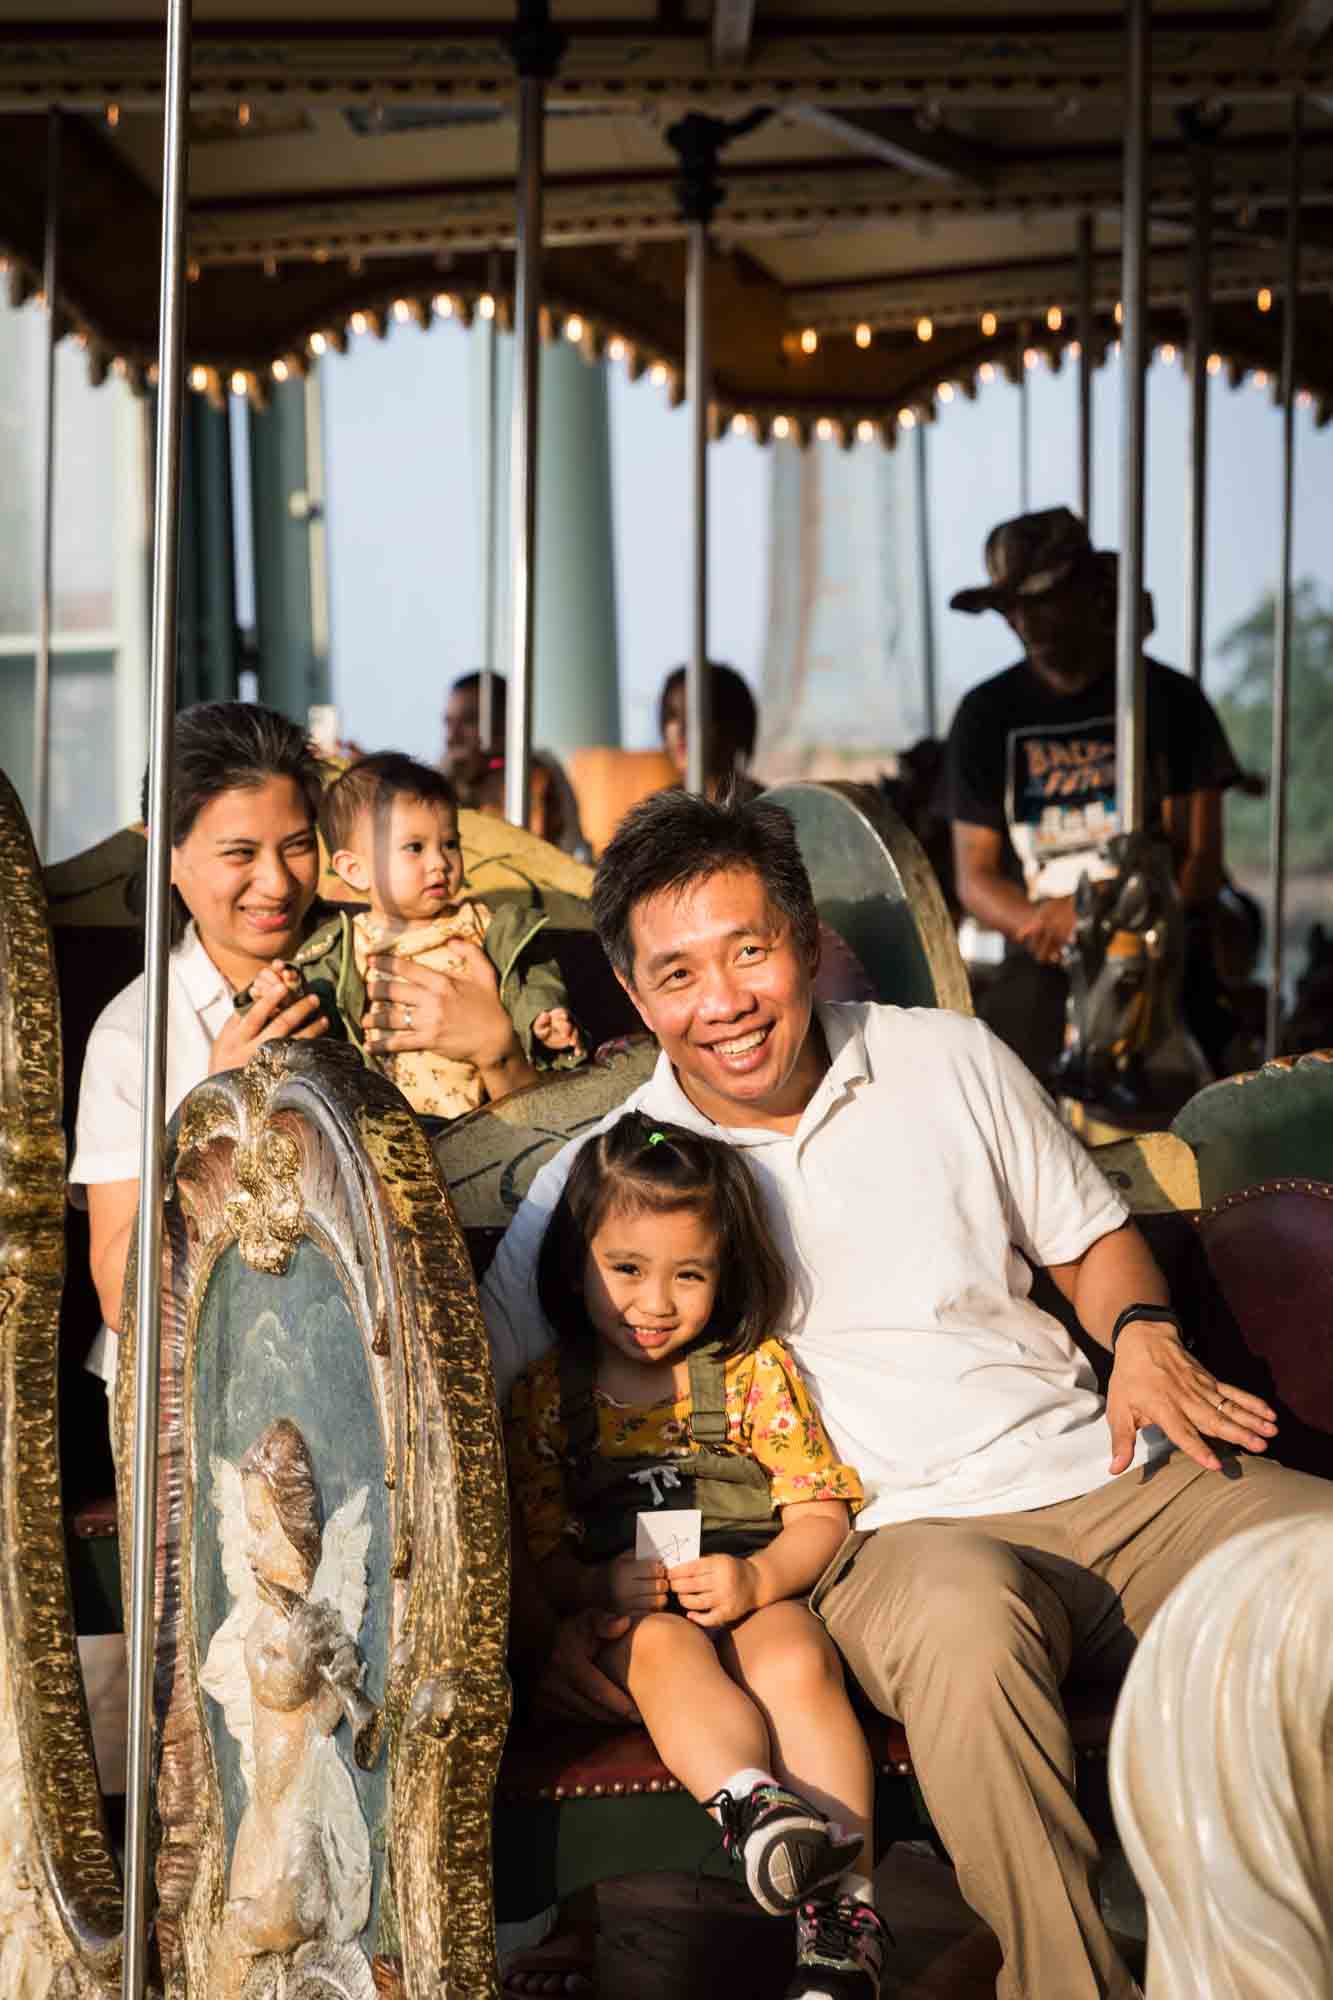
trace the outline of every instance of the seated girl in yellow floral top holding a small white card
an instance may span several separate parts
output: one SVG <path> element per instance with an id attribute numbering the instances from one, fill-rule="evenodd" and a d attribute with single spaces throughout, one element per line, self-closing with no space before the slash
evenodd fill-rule
<path id="1" fill-rule="evenodd" d="M 508 1462 L 542 1586 L 630 1616 L 598 1664 L 761 1908 L 795 1912 L 789 2000 L 873 2000 L 873 1768 L 805 1606 L 863 1494 L 777 1338 L 789 1276 L 743 1156 L 638 1112 L 588 1140 L 538 1296 L 556 1346 L 514 1384 Z"/>

